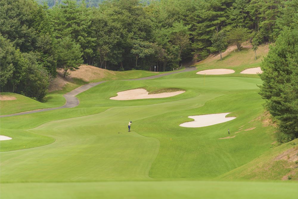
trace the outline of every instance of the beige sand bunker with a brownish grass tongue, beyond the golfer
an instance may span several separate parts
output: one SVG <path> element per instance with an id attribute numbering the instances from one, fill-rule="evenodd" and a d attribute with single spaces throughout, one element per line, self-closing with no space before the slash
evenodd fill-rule
<path id="1" fill-rule="evenodd" d="M 185 91 L 164 92 L 157 94 L 148 94 L 145 89 L 132 89 L 117 92 L 117 96 L 111 97 L 113 100 L 134 100 L 134 99 L 149 99 L 149 98 L 167 98 L 184 93 Z"/>

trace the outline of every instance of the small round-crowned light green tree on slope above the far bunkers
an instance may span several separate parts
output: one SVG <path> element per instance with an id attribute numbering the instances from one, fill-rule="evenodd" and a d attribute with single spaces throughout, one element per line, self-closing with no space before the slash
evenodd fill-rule
<path id="1" fill-rule="evenodd" d="M 230 44 L 236 45 L 238 51 L 241 49 L 241 44 L 250 36 L 250 31 L 247 28 L 237 27 L 233 28 L 228 33 L 228 41 Z"/>

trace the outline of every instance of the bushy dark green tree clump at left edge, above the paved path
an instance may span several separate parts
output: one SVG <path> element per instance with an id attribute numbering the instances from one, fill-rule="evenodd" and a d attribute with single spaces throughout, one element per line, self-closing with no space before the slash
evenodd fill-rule
<path id="1" fill-rule="evenodd" d="M 1 91 L 16 92 L 44 101 L 49 73 L 36 60 L 33 52 L 21 53 L 1 36 Z"/>

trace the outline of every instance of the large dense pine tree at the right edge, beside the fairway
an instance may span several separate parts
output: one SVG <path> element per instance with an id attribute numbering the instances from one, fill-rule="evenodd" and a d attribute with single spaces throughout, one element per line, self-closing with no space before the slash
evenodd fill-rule
<path id="1" fill-rule="evenodd" d="M 298 29 L 282 33 L 264 59 L 260 95 L 279 121 L 280 142 L 298 137 Z"/>

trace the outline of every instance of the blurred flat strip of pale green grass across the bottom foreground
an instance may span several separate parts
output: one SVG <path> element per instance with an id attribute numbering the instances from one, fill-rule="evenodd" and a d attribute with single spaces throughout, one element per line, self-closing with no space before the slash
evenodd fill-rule
<path id="1" fill-rule="evenodd" d="M 16 189 L 18 191 L 16 191 Z M 1 184 L 1 198 L 297 198 L 297 182 L 133 181 Z"/>

